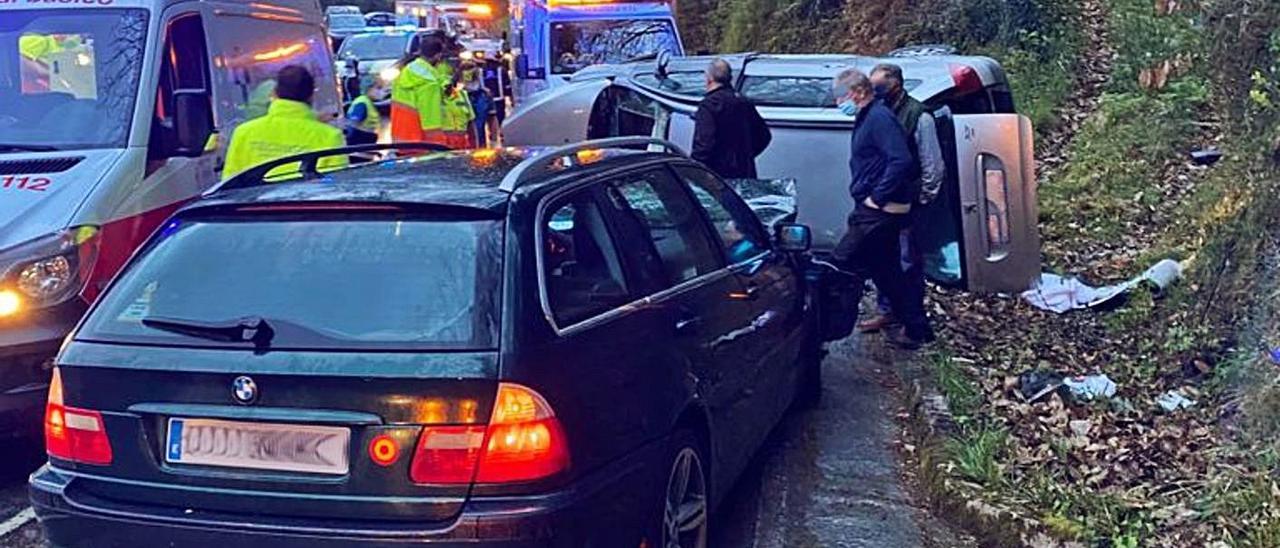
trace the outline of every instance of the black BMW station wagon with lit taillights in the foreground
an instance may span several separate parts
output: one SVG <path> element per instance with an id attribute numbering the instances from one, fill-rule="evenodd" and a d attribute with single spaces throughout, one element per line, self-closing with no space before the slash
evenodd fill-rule
<path id="1" fill-rule="evenodd" d="M 184 207 L 59 356 L 49 538 L 704 547 L 822 351 L 806 229 L 672 150 L 311 154 Z"/>

